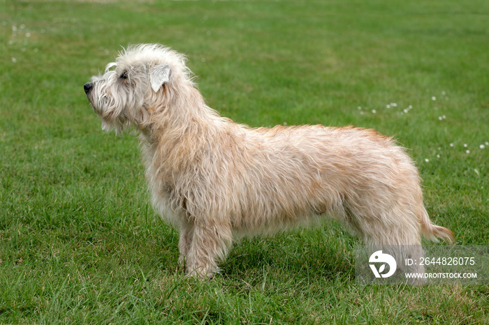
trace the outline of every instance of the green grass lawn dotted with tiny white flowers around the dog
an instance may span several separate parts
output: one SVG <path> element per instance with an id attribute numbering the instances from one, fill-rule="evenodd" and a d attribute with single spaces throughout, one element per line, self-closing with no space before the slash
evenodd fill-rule
<path id="1" fill-rule="evenodd" d="M 104 134 L 82 89 L 120 45 L 170 45 L 235 121 L 395 135 L 432 220 L 489 245 L 488 1 L 1 7 L 0 323 L 489 321 L 488 286 L 355 285 L 360 241 L 334 222 L 242 241 L 221 275 L 187 280 L 177 232 L 148 204 L 138 141 Z"/>

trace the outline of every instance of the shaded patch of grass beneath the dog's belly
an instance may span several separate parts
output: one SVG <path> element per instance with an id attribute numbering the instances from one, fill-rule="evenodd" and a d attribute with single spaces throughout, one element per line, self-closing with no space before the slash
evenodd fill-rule
<path id="1" fill-rule="evenodd" d="M 323 278 L 353 277 L 354 242 L 349 235 L 329 236 L 329 230 L 304 230 L 266 239 L 247 239 L 234 245 L 221 264 L 225 277 L 256 279 L 264 276 Z"/>

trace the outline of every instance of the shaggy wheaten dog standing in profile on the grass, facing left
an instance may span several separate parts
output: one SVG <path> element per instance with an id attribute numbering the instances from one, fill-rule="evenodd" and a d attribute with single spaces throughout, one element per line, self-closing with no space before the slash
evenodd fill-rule
<path id="1" fill-rule="evenodd" d="M 180 231 L 188 275 L 212 277 L 242 236 L 328 216 L 367 245 L 453 241 L 430 221 L 414 162 L 391 137 L 234 123 L 205 104 L 186 61 L 169 47 L 133 45 L 84 89 L 103 130 L 139 134 L 152 204 Z"/>

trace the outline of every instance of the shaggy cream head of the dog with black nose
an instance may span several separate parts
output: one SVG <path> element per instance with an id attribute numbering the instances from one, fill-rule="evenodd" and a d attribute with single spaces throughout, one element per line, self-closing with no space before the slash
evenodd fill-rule
<path id="1" fill-rule="evenodd" d="M 143 130 L 156 107 L 171 100 L 171 84 L 189 81 L 182 54 L 161 45 L 134 45 L 123 50 L 105 73 L 84 85 L 103 130 Z"/>

